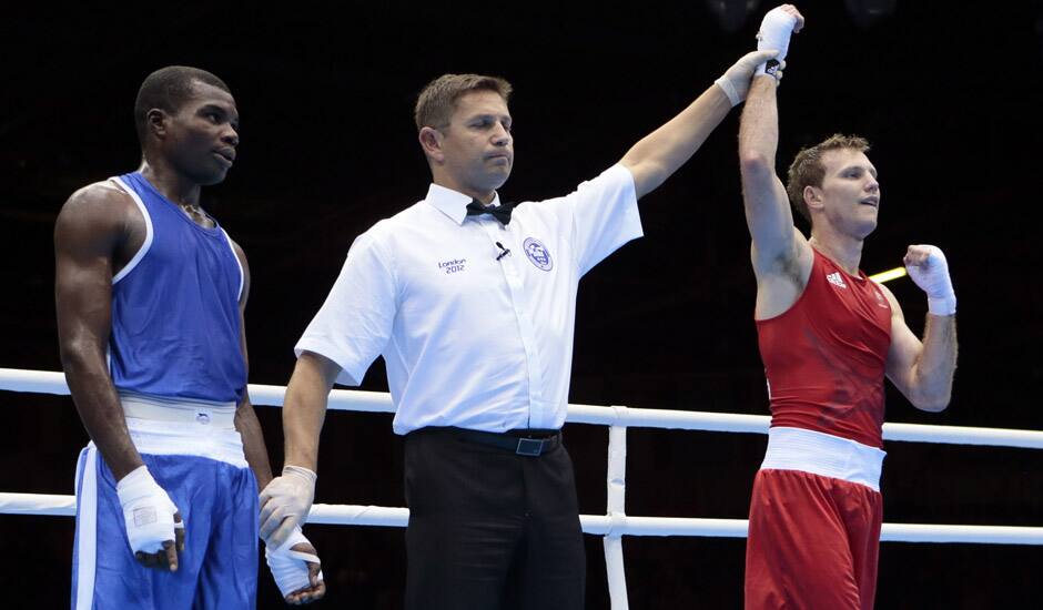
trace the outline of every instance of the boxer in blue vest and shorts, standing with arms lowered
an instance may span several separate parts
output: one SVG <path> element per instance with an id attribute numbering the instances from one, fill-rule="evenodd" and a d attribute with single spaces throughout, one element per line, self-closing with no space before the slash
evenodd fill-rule
<path id="1" fill-rule="evenodd" d="M 246 394 L 246 256 L 201 206 L 235 161 L 217 77 L 150 74 L 142 164 L 90 184 L 54 230 L 62 366 L 91 443 L 77 467 L 72 608 L 254 608 L 257 487 L 272 478 Z M 290 603 L 325 592 L 315 549 L 267 549 Z"/>

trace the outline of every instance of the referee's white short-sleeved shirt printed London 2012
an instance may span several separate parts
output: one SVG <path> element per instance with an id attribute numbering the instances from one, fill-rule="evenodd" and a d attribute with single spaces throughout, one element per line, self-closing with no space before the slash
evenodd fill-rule
<path id="1" fill-rule="evenodd" d="M 344 385 L 383 355 L 397 434 L 560 428 L 579 278 L 642 235 L 634 177 L 614 165 L 507 226 L 467 216 L 470 201 L 432 184 L 360 235 L 295 350 L 338 364 Z"/>

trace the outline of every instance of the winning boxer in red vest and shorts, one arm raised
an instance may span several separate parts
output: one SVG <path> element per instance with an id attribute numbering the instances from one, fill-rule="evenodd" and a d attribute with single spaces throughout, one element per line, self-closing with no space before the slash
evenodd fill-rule
<path id="1" fill-rule="evenodd" d="M 865 140 L 833 135 L 797 155 L 787 186 L 776 175 L 777 72 L 802 26 L 788 4 L 764 17 L 758 47 L 780 51 L 779 63 L 755 75 L 739 126 L 772 416 L 750 505 L 746 608 L 869 609 L 884 376 L 917 408 L 948 406 L 956 299 L 942 251 L 909 246 L 904 264 L 930 312 L 921 340 L 891 292 L 859 270 L 881 201 Z M 810 237 L 793 226 L 790 204 L 811 223 Z"/>

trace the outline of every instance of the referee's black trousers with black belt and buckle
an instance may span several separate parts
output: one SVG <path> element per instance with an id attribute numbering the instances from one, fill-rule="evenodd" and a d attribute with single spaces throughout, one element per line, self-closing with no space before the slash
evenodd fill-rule
<path id="1" fill-rule="evenodd" d="M 583 609 L 586 557 L 560 433 L 415 430 L 405 491 L 407 610 Z"/>

